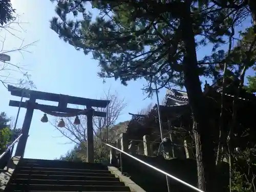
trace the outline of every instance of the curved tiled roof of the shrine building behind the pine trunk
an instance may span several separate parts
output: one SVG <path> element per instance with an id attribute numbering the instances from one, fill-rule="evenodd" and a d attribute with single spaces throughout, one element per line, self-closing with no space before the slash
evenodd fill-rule
<path id="1" fill-rule="evenodd" d="M 225 96 L 234 97 L 234 93 L 237 89 L 238 84 L 234 81 L 227 81 Z M 203 94 L 210 98 L 216 97 L 220 98 L 219 95 L 223 92 L 222 80 L 219 80 L 213 83 L 211 86 L 206 82 L 205 89 Z M 242 90 L 240 97 L 238 98 L 242 102 L 244 101 L 256 101 L 256 97 L 253 94 L 247 93 L 245 90 Z M 255 102 L 256 103 L 256 102 Z M 159 109 L 162 116 L 162 121 L 166 119 L 169 120 L 178 120 L 179 117 L 190 117 L 190 106 L 188 104 L 188 96 L 185 91 L 178 89 L 168 89 L 165 95 L 165 105 L 159 105 Z M 158 110 L 157 104 L 154 105 L 153 109 L 146 115 L 143 114 L 132 114 L 132 119 L 127 125 L 127 131 L 131 133 L 139 134 L 145 132 L 145 129 L 149 129 L 152 126 L 157 126 L 155 122 L 158 119 Z M 185 115 L 185 116 L 184 116 Z M 144 130 L 144 131 L 143 131 Z M 142 134 L 142 133 L 141 133 Z"/>

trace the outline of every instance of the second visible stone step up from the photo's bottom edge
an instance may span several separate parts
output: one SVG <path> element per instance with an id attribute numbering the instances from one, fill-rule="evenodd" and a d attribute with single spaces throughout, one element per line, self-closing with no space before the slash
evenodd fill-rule
<path id="1" fill-rule="evenodd" d="M 86 186 L 124 186 L 123 182 L 120 181 L 81 181 L 81 180 L 50 180 L 50 179 L 33 179 L 34 177 L 32 176 L 31 179 L 13 179 L 12 183 L 15 184 L 29 184 L 29 185 L 86 185 Z"/>

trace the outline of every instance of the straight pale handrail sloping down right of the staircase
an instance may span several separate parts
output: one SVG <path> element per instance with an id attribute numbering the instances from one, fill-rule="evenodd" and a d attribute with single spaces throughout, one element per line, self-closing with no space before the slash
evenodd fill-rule
<path id="1" fill-rule="evenodd" d="M 104 143 L 104 142 L 103 142 L 103 143 Z M 105 144 L 105 145 L 108 145 L 108 146 L 110 146 L 110 147 L 112 147 L 112 148 L 114 148 L 115 150 L 117 150 L 117 151 L 119 151 L 119 152 L 121 152 L 121 153 L 123 153 L 123 154 L 125 154 L 125 155 L 127 155 L 127 156 L 129 156 L 129 157 L 131 157 L 131 158 L 133 158 L 133 159 L 135 159 L 136 161 L 139 161 L 140 163 L 142 163 L 142 164 L 144 164 L 144 165 L 146 165 L 146 166 L 148 166 L 148 167 L 151 167 L 151 168 L 155 169 L 157 172 L 160 172 L 160 173 L 162 173 L 162 174 L 164 174 L 164 175 L 166 175 L 166 176 L 168 176 L 168 177 L 170 177 L 170 178 L 172 178 L 172 179 L 174 179 L 174 180 L 176 180 L 176 181 L 182 183 L 183 185 L 186 185 L 186 186 L 188 186 L 188 187 L 190 187 L 190 188 L 192 188 L 192 189 L 194 189 L 194 190 L 196 190 L 196 191 L 204 192 L 203 190 L 200 190 L 199 188 L 197 188 L 197 187 L 195 187 L 195 186 L 193 186 L 193 185 L 190 185 L 190 184 L 186 183 L 185 181 L 182 181 L 181 179 L 179 179 L 179 178 L 177 178 L 177 177 L 174 177 L 173 175 L 170 175 L 170 174 L 164 172 L 163 170 L 161 170 L 161 169 L 159 169 L 159 168 L 157 168 L 157 167 L 154 167 L 153 165 L 148 164 L 148 163 L 146 163 L 146 162 L 144 162 L 144 161 L 142 161 L 142 160 L 140 160 L 140 159 L 138 159 L 138 158 L 136 158 L 136 157 L 130 155 L 129 153 L 126 153 L 126 152 L 124 152 L 124 151 L 122 151 L 122 150 L 119 150 L 119 148 L 116 148 L 116 147 L 114 147 L 114 146 L 112 146 L 112 145 L 110 145 L 110 144 L 108 144 L 108 143 L 104 143 L 104 144 Z"/>

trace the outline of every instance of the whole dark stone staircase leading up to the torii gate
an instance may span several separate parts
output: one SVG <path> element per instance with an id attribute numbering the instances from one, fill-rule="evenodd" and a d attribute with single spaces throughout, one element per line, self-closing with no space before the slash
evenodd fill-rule
<path id="1" fill-rule="evenodd" d="M 131 191 L 100 163 L 21 159 L 5 191 Z"/>

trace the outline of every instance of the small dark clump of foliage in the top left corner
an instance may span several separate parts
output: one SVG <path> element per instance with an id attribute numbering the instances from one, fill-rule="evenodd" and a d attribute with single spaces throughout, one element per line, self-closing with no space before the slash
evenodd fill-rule
<path id="1" fill-rule="evenodd" d="M 12 8 L 10 0 L 1 0 L 0 2 L 0 24 L 3 26 L 12 20 L 15 9 Z"/>

